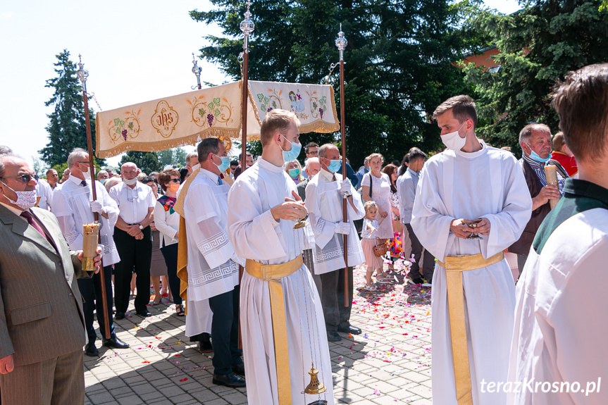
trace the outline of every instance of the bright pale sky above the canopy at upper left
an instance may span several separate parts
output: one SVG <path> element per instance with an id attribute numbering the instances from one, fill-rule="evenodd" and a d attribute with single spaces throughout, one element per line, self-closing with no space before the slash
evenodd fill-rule
<path id="1" fill-rule="evenodd" d="M 255 1 L 254 1 L 255 4 Z M 486 0 L 502 13 L 519 9 L 514 0 Z M 56 54 L 82 54 L 89 70 L 87 90 L 111 110 L 190 91 L 192 52 L 217 27 L 196 23 L 188 11 L 209 10 L 207 0 L 3 1 L 0 5 L 0 144 L 30 160 L 46 146 L 51 108 L 44 102 L 55 77 Z M 255 15 L 254 15 L 255 20 Z M 250 62 L 252 63 L 252 62 Z M 221 84 L 217 66 L 199 61 L 202 79 Z M 94 101 L 92 108 L 99 111 Z M 192 149 L 192 148 L 187 148 Z M 109 160 L 116 164 L 118 158 Z"/>

